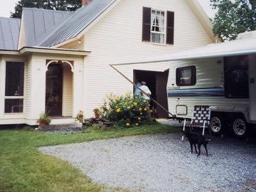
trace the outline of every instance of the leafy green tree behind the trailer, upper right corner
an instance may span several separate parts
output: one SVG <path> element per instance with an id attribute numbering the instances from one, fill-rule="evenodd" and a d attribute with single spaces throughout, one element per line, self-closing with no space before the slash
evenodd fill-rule
<path id="1" fill-rule="evenodd" d="M 214 35 L 221 41 L 256 29 L 256 0 L 211 0 L 211 6 L 218 9 L 212 24 Z"/>

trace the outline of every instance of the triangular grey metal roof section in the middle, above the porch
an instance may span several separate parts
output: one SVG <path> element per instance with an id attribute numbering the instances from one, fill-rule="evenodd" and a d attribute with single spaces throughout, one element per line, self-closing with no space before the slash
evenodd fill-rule
<path id="1" fill-rule="evenodd" d="M 73 14 L 74 12 L 23 8 L 22 22 L 24 22 L 26 46 L 41 42 Z"/>

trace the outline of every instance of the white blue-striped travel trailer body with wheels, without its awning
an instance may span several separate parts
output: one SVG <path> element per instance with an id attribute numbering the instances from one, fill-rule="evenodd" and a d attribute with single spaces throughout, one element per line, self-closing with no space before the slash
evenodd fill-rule
<path id="1" fill-rule="evenodd" d="M 170 113 L 176 118 L 191 118 L 194 106 L 207 105 L 211 107 L 210 127 L 214 134 L 231 130 L 236 136 L 244 136 L 249 124 L 256 123 L 255 56 L 173 63 L 167 87 Z"/>

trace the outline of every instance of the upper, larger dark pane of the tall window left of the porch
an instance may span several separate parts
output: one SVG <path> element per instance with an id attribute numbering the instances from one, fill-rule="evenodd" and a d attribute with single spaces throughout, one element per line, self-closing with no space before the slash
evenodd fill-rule
<path id="1" fill-rule="evenodd" d="M 23 96 L 24 63 L 6 62 L 5 96 Z"/>

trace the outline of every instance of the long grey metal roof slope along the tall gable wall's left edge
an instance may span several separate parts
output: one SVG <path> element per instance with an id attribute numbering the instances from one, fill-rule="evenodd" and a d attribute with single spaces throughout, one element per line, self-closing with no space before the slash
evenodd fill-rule
<path id="1" fill-rule="evenodd" d="M 76 10 L 74 15 L 67 19 L 60 28 L 52 31 L 48 38 L 42 40 L 38 46 L 52 47 L 53 45 L 65 42 L 70 38 L 74 38 L 81 33 L 90 23 L 93 22 L 99 15 L 104 12 L 116 0 L 93 0 Z"/>

